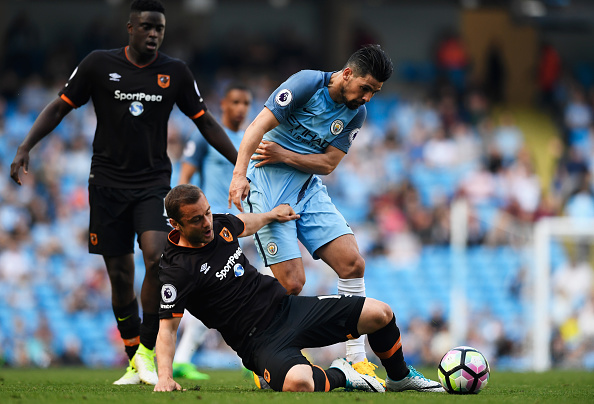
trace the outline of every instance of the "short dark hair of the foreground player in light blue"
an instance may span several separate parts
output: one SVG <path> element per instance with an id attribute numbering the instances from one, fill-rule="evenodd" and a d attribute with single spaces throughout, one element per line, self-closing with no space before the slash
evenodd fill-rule
<path id="1" fill-rule="evenodd" d="M 390 57 L 379 45 L 365 45 L 351 55 L 344 67 L 350 67 L 357 77 L 370 74 L 383 83 L 394 71 Z"/>

